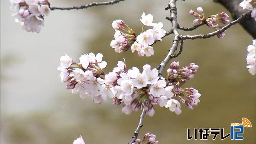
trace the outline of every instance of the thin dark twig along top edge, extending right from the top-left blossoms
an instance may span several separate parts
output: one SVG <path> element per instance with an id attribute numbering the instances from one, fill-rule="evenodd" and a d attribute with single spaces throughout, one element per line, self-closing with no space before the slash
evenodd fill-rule
<path id="1" fill-rule="evenodd" d="M 71 9 L 87 9 L 89 7 L 93 7 L 93 6 L 105 6 L 105 5 L 113 5 L 115 3 L 119 3 L 120 1 L 124 1 L 124 0 L 113 0 L 113 1 L 108 1 L 108 2 L 93 2 L 93 3 L 89 3 L 87 5 L 82 5 L 82 6 L 72 6 L 72 7 L 51 7 L 50 9 L 53 11 L 55 9 L 59 9 L 59 10 L 71 10 Z"/>

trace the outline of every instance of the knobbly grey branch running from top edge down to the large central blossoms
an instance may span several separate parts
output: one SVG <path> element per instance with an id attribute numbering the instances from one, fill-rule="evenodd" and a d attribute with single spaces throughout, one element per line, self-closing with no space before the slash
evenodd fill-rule
<path id="1" fill-rule="evenodd" d="M 160 63 L 157 67 L 159 69 L 159 73 L 162 74 L 166 64 L 170 61 L 175 51 L 177 50 L 177 46 L 179 44 L 180 35 L 178 32 L 178 22 L 177 22 L 177 8 L 176 8 L 176 0 L 170 0 L 168 8 L 170 9 L 170 19 L 172 22 L 173 34 L 175 35 L 174 40 L 172 42 L 172 47 L 169 49 L 169 53 L 166 55 L 166 58 Z"/>

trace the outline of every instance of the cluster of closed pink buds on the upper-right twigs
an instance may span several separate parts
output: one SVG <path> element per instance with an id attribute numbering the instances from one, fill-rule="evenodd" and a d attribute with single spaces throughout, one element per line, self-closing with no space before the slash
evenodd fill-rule
<path id="1" fill-rule="evenodd" d="M 230 23 L 230 20 L 228 20 L 228 15 L 225 12 L 221 12 L 220 14 L 214 14 L 210 15 L 208 18 L 204 16 L 204 10 L 201 7 L 198 7 L 197 12 L 194 12 L 193 10 L 189 11 L 190 15 L 195 16 L 197 19 L 193 21 L 193 24 L 200 24 L 200 23 L 206 23 L 207 26 L 213 29 L 221 29 L 223 26 L 220 25 L 222 24 L 227 24 Z M 224 33 L 218 34 L 218 38 L 223 38 Z"/>

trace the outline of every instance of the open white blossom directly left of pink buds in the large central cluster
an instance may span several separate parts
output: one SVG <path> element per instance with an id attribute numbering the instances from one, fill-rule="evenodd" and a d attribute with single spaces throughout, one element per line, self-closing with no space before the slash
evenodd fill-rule
<path id="1" fill-rule="evenodd" d="M 166 90 L 164 87 L 166 86 L 166 81 L 160 80 L 157 81 L 156 84 L 150 87 L 149 94 L 153 95 L 156 98 L 159 98 L 161 95 L 164 96 L 166 94 Z"/>

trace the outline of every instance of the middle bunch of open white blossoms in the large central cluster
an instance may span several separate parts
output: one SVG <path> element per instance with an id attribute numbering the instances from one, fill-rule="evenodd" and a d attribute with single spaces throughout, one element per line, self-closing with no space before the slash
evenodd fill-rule
<path id="1" fill-rule="evenodd" d="M 159 80 L 158 70 L 151 70 L 150 65 L 144 65 L 142 73 L 137 67 L 127 71 L 122 61 L 117 65 L 113 72 L 105 75 L 105 82 L 116 90 L 113 104 L 122 104 L 125 114 L 145 109 L 149 116 L 153 116 L 153 105 L 164 107 L 174 95 L 171 92 L 173 86 L 166 86 L 166 81 Z"/>

